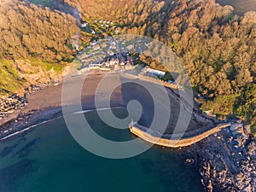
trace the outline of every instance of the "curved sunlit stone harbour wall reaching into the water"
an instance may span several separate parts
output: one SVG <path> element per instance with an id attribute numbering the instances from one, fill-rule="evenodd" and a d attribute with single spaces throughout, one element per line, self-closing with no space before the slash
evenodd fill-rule
<path id="1" fill-rule="evenodd" d="M 227 124 L 221 124 L 218 125 L 208 131 L 204 131 L 201 133 L 198 133 L 195 136 L 191 136 L 193 134 L 191 134 L 190 131 L 189 135 L 190 137 L 183 137 L 185 136 L 185 134 L 183 133 L 177 133 L 177 134 L 172 134 L 171 137 L 168 135 L 162 135 L 159 132 L 150 130 L 146 127 L 144 127 L 143 125 L 131 125 L 130 126 L 130 131 L 131 133 L 133 133 L 134 135 L 136 135 L 137 137 L 141 137 L 143 140 L 149 142 L 149 143 L 154 143 L 156 145 L 160 145 L 160 146 L 165 146 L 165 147 L 169 147 L 169 148 L 181 148 L 181 147 L 186 147 L 189 146 L 191 144 L 197 143 L 199 141 L 201 141 L 202 139 L 212 135 L 215 132 L 220 131 L 221 129 L 230 126 L 231 123 L 227 123 Z"/>

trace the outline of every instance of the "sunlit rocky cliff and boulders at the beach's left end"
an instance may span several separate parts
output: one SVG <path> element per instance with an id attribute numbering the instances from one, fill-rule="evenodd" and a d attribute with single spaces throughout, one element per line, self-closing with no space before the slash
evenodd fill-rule
<path id="1" fill-rule="evenodd" d="M 0 97 L 0 120 L 8 118 L 12 113 L 22 112 L 27 104 L 27 95 L 41 91 L 52 84 L 58 84 L 67 75 L 69 67 L 70 65 L 66 63 L 61 68 L 61 72 L 57 73 L 54 68 L 46 70 L 43 64 L 32 65 L 28 60 L 16 60 L 15 68 L 18 70 L 19 78 L 23 79 L 23 83 L 14 94 Z"/>

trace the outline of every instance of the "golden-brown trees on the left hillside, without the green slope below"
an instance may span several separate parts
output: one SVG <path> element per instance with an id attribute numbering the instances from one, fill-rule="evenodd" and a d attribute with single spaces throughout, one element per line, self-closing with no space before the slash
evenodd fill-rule
<path id="1" fill-rule="evenodd" d="M 79 33 L 73 16 L 20 1 L 5 1 L 0 16 L 2 58 L 36 56 L 45 61 L 73 58 L 74 52 L 69 48 L 71 37 Z"/>

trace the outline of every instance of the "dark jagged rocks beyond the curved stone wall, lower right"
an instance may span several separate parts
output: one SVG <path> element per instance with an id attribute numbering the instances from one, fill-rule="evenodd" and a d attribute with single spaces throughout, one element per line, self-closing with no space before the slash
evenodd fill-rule
<path id="1" fill-rule="evenodd" d="M 209 192 L 255 191 L 256 143 L 249 127 L 235 123 L 191 148 Z"/>

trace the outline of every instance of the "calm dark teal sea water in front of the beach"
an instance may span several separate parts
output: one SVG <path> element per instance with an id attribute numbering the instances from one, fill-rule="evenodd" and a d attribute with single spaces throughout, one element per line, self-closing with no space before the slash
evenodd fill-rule
<path id="1" fill-rule="evenodd" d="M 113 131 L 95 112 L 85 116 L 104 137 L 134 137 Z M 0 191 L 202 192 L 197 167 L 184 164 L 186 155 L 154 146 L 133 158 L 104 159 L 80 147 L 64 119 L 56 119 L 0 143 Z"/>

